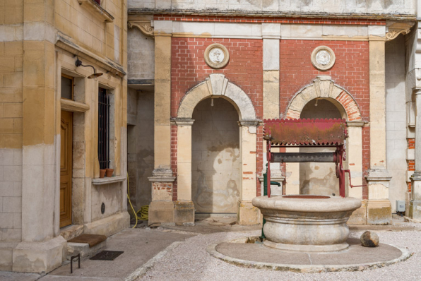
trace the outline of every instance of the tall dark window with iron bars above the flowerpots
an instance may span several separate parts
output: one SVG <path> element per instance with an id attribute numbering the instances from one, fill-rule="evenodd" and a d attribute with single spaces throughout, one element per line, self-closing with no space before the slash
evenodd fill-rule
<path id="1" fill-rule="evenodd" d="M 98 160 L 100 169 L 109 167 L 109 96 L 100 88 L 98 94 Z"/>

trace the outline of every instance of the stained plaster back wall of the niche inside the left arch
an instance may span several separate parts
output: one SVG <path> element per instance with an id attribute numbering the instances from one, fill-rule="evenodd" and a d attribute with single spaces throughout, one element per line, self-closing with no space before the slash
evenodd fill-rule
<path id="1" fill-rule="evenodd" d="M 197 213 L 236 213 L 241 188 L 237 110 L 221 98 L 193 112 L 192 200 Z M 178 143 L 182 145 L 182 143 Z"/>

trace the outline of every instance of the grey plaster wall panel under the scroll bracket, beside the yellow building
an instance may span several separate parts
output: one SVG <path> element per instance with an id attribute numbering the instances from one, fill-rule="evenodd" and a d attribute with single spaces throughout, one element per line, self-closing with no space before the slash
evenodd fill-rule
<path id="1" fill-rule="evenodd" d="M 128 79 L 153 79 L 155 77 L 155 43 L 137 28 L 127 31 Z"/>

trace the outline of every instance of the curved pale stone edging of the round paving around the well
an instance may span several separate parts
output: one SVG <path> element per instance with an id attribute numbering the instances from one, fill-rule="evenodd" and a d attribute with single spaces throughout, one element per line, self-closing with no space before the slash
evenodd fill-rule
<path id="1" fill-rule="evenodd" d="M 244 238 L 247 239 L 247 238 Z M 243 239 L 235 239 L 225 242 L 232 242 L 238 243 Z M 223 243 L 223 242 L 220 242 Z M 218 244 L 220 244 L 218 243 Z M 260 263 L 256 261 L 247 261 L 242 260 L 239 258 L 232 258 L 230 256 L 226 256 L 223 253 L 216 251 L 216 246 L 218 244 L 210 244 L 206 247 L 206 251 L 215 258 L 219 258 L 226 263 L 231 263 L 233 265 L 237 265 L 243 268 L 258 268 L 258 269 L 268 269 L 268 270 L 278 270 L 278 271 L 292 271 L 296 273 L 328 273 L 328 272 L 336 272 L 336 271 L 362 271 L 367 269 L 374 269 L 374 268 L 383 268 L 388 265 L 392 265 L 393 263 L 398 263 L 401 261 L 406 261 L 408 258 L 413 256 L 414 253 L 410 253 L 407 249 L 402 249 L 391 244 L 387 244 L 389 246 L 393 246 L 396 249 L 399 249 L 402 252 L 402 255 L 399 258 L 395 258 L 391 261 L 383 261 L 377 263 L 357 263 L 357 264 L 350 264 L 350 265 L 291 265 L 291 264 L 281 264 L 281 263 Z"/>

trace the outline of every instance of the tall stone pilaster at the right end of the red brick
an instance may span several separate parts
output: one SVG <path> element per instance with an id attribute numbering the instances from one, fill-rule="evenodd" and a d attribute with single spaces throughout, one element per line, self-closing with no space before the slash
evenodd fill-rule
<path id="1" fill-rule="evenodd" d="M 370 169 L 368 183 L 367 223 L 391 223 L 391 202 L 386 169 L 386 85 L 385 30 L 369 29 L 369 92 L 370 92 Z"/>

